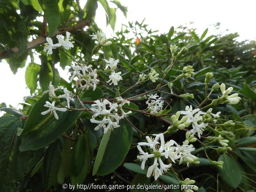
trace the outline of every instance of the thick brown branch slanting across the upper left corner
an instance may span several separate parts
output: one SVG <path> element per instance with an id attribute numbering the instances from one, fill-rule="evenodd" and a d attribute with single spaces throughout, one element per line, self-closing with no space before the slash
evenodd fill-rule
<path id="1" fill-rule="evenodd" d="M 30 49 L 35 48 L 38 45 L 41 45 L 41 44 L 45 43 L 46 36 L 47 36 L 47 33 L 45 34 L 45 32 L 44 32 L 45 22 L 46 22 L 46 20 L 44 20 L 43 24 L 42 24 L 42 34 L 41 34 L 41 36 L 37 37 L 36 39 L 32 40 L 31 42 L 28 42 L 27 51 L 29 51 Z M 55 33 L 52 35 L 52 37 L 56 37 L 57 35 L 66 33 L 67 31 L 75 31 L 77 29 L 83 28 L 84 26 L 89 26 L 90 24 L 91 24 L 91 20 L 88 20 L 88 19 L 83 20 L 83 21 L 77 23 L 76 25 L 73 25 L 72 27 L 66 27 L 66 28 L 58 29 L 57 31 L 55 31 Z M 18 47 L 14 47 L 10 51 L 13 52 L 16 55 L 20 52 Z M 0 52 L 0 59 L 10 57 L 10 51 Z"/>

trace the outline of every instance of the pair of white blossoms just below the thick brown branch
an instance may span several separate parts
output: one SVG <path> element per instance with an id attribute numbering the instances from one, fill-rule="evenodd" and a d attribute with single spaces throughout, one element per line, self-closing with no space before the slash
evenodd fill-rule
<path id="1" fill-rule="evenodd" d="M 63 35 L 57 35 L 56 36 L 59 43 L 57 44 L 53 44 L 52 39 L 50 37 L 46 37 L 46 41 L 47 43 L 45 43 L 44 45 L 44 51 L 47 51 L 47 56 L 50 54 L 52 54 L 52 49 L 56 49 L 58 47 L 63 47 L 64 49 L 71 49 L 71 47 L 74 47 L 73 43 L 74 41 L 70 41 L 73 39 L 73 37 L 70 37 L 70 33 L 67 31 L 66 32 L 66 39 L 64 40 L 64 36 Z"/>

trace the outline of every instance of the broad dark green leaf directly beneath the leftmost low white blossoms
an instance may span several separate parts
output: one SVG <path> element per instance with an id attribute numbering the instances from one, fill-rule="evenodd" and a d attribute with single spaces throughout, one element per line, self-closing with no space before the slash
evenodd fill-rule
<path id="1" fill-rule="evenodd" d="M 37 101 L 37 102 L 39 102 L 39 101 Z M 34 105 L 34 107 L 36 106 L 36 108 L 38 105 L 37 102 Z M 41 103 L 41 101 L 40 101 L 40 103 Z M 32 108 L 29 116 L 31 115 L 31 113 L 34 112 L 33 111 L 33 110 L 35 110 L 34 107 Z M 74 107 L 74 105 L 73 105 L 73 107 Z M 23 137 L 22 137 L 22 143 L 20 145 L 20 150 L 21 151 L 36 150 L 36 149 L 42 148 L 42 147 L 50 144 L 52 141 L 56 140 L 64 132 L 66 132 L 68 130 L 68 128 L 70 126 L 72 126 L 72 124 L 75 123 L 76 119 L 78 118 L 78 116 L 80 116 L 81 113 L 82 113 L 82 111 L 76 111 L 76 110 L 60 112 L 60 113 L 58 113 L 59 120 L 56 120 L 54 116 L 50 117 L 50 116 L 52 116 L 52 114 L 46 115 L 46 116 L 49 116 L 48 118 L 47 117 L 46 118 L 43 117 L 42 119 L 38 118 L 37 119 L 38 124 L 36 125 L 36 122 L 34 123 L 34 127 L 37 130 L 35 133 L 34 133 L 34 131 L 31 131 L 31 133 L 30 133 L 30 130 L 27 132 L 26 135 L 23 135 L 23 133 L 22 133 Z M 38 112 L 37 112 L 37 114 L 38 114 Z M 41 116 L 41 112 L 39 114 Z M 26 121 L 25 128 L 26 127 L 31 128 L 33 126 L 31 124 L 33 124 L 34 121 L 33 121 L 33 119 L 29 119 L 29 116 Z M 37 116 L 39 116 L 39 115 L 37 115 Z"/>

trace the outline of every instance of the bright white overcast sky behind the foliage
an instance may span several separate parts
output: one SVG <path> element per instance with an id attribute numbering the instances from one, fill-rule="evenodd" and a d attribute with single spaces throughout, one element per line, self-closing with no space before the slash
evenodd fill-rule
<path id="1" fill-rule="evenodd" d="M 108 1 L 109 2 L 109 1 Z M 180 25 L 190 25 L 197 28 L 197 33 L 202 34 L 206 28 L 209 28 L 208 34 L 217 34 L 213 30 L 213 25 L 220 22 L 220 31 L 224 33 L 238 32 L 239 41 L 249 39 L 255 40 L 255 7 L 256 1 L 253 0 L 120 0 L 121 4 L 128 7 L 127 18 L 120 10 L 116 11 L 116 30 L 120 30 L 122 24 L 128 24 L 128 21 L 141 22 L 144 18 L 148 28 L 159 30 L 161 33 L 167 33 L 171 26 L 174 28 Z M 80 0 L 81 6 L 84 6 L 86 0 Z M 107 37 L 113 35 L 110 26 L 106 27 L 105 11 L 99 4 L 96 11 L 95 22 L 107 34 Z M 110 7 L 116 7 L 109 2 Z M 225 32 L 229 29 L 228 32 Z M 26 66 L 30 62 L 28 59 Z M 40 64 L 39 59 L 35 62 Z M 67 79 L 67 70 L 63 71 L 59 64 L 55 66 L 62 77 Z M 26 68 L 19 69 L 16 75 L 12 74 L 8 63 L 0 63 L 0 103 L 5 102 L 7 106 L 20 108 L 24 96 L 28 96 L 29 90 L 25 83 Z M 3 112 L 2 112 L 3 113 Z M 1 113 L 0 113 L 1 116 Z"/>

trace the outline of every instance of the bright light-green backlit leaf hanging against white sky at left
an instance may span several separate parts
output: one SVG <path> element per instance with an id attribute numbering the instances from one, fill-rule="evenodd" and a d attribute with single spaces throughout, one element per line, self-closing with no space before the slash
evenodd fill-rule
<path id="1" fill-rule="evenodd" d="M 40 71 L 40 65 L 35 63 L 29 63 L 25 71 L 25 82 L 30 89 L 30 94 L 36 91 L 38 73 Z"/>

